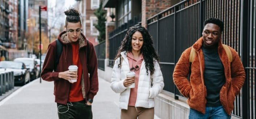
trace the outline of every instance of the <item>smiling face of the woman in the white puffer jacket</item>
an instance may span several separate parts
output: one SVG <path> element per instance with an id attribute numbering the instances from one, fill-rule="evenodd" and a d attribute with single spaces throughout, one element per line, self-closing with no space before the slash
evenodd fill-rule
<path id="1" fill-rule="evenodd" d="M 143 45 L 141 32 L 136 31 L 131 38 L 131 52 L 140 52 Z"/>

